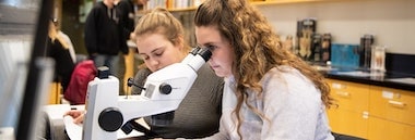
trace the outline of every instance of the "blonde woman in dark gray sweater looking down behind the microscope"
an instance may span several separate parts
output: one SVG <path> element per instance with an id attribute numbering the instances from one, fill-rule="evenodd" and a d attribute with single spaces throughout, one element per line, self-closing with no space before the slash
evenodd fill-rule
<path id="1" fill-rule="evenodd" d="M 144 67 L 137 73 L 134 84 L 142 87 L 150 74 L 181 62 L 191 50 L 183 40 L 181 23 L 165 9 L 155 9 L 142 16 L 134 34 L 139 55 L 144 60 Z M 218 131 L 223 86 L 223 78 L 215 76 L 213 69 L 204 64 L 199 68 L 198 77 L 188 94 L 175 111 L 171 125 L 154 126 L 151 117 L 145 117 L 144 120 L 161 138 L 194 139 L 211 136 Z M 132 93 L 141 93 L 141 90 L 132 87 Z M 80 111 L 70 111 L 67 115 L 74 117 L 75 123 L 83 120 Z"/>

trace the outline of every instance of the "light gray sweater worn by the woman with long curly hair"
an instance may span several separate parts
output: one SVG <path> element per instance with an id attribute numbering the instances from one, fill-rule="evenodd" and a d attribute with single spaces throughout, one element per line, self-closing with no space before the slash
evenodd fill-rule
<path id="1" fill-rule="evenodd" d="M 261 79 L 262 97 L 247 91 L 249 103 L 268 119 L 260 118 L 242 104 L 240 133 L 244 140 L 334 140 L 320 91 L 297 69 L 280 68 L 285 72 L 272 68 Z M 205 140 L 239 140 L 233 114 L 235 81 L 232 77 L 225 80 L 220 132 Z"/>

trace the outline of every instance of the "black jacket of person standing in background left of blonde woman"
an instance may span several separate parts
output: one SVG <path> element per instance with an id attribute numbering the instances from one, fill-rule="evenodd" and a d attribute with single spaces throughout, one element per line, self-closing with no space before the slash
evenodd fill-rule
<path id="1" fill-rule="evenodd" d="M 104 2 L 94 5 L 85 22 L 85 47 L 91 54 L 117 55 L 119 51 L 128 53 L 121 46 L 119 17 L 115 9 L 108 9 Z"/>

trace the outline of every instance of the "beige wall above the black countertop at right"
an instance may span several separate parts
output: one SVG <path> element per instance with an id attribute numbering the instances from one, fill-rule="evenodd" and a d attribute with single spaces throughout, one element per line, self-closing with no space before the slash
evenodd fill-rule
<path id="1" fill-rule="evenodd" d="M 317 33 L 331 33 L 333 43 L 359 43 L 364 34 L 387 52 L 415 54 L 415 0 L 325 0 L 258 5 L 284 40 L 295 36 L 297 21 L 316 17 Z"/>

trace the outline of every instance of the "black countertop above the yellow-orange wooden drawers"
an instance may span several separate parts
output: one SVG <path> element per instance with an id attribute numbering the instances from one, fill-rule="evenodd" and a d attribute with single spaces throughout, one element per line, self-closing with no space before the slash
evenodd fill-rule
<path id="1" fill-rule="evenodd" d="M 325 78 L 415 91 L 415 75 L 344 67 L 316 66 Z"/>

